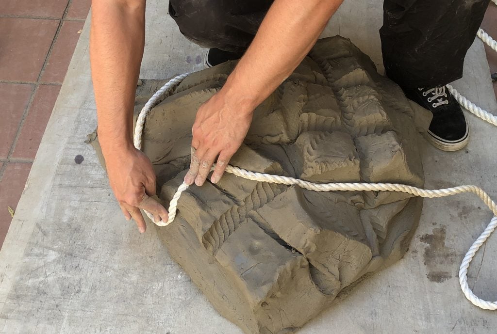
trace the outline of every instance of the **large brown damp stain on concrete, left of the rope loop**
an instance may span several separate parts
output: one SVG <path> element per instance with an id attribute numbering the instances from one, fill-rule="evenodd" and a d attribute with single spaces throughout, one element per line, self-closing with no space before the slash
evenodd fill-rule
<path id="1" fill-rule="evenodd" d="M 430 281 L 441 283 L 452 277 L 450 271 L 455 263 L 456 254 L 445 246 L 445 226 L 434 228 L 431 234 L 419 238 L 428 246 L 424 249 L 424 265 Z"/>

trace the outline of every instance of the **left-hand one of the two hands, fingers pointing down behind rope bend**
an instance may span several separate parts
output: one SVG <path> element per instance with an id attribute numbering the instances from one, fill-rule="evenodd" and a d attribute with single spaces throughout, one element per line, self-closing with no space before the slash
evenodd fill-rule
<path id="1" fill-rule="evenodd" d="M 167 221 L 167 210 L 151 198 L 156 194 L 156 175 L 149 158 L 136 148 L 104 154 L 110 187 L 127 220 L 133 218 L 141 233 L 147 226 L 140 209 L 149 211 L 154 220 Z"/>

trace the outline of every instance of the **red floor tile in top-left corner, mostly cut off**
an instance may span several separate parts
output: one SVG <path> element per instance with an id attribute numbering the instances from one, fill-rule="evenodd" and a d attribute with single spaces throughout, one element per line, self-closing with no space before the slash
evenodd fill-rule
<path id="1" fill-rule="evenodd" d="M 61 18 L 69 0 L 2 0 L 1 15 Z"/>

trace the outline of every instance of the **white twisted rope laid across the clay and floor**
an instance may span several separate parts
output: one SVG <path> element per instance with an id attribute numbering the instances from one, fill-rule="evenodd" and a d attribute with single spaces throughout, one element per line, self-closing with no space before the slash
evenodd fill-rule
<path id="1" fill-rule="evenodd" d="M 496 2 L 497 0 L 492 0 L 493 2 Z M 492 39 L 487 33 L 485 33 L 482 29 L 478 31 L 478 36 L 485 42 L 487 43 L 491 48 L 497 51 L 497 42 Z M 188 75 L 189 73 L 184 73 L 180 74 L 171 80 L 169 80 L 163 87 L 161 87 L 151 98 L 150 100 L 145 104 L 143 109 L 141 110 L 137 122 L 136 122 L 136 128 L 135 128 L 135 134 L 134 134 L 134 145 L 137 149 L 142 148 L 142 134 L 143 134 L 143 128 L 145 124 L 145 119 L 147 118 L 147 115 L 149 112 L 152 110 L 152 108 L 159 103 L 160 101 L 164 100 L 167 96 L 171 94 L 171 92 L 174 91 L 174 89 L 181 83 L 181 81 Z M 477 117 L 483 119 L 484 121 L 493 124 L 497 126 L 497 117 L 495 115 L 492 115 L 488 111 L 485 111 L 481 109 L 480 107 L 476 106 L 474 103 L 466 99 L 464 96 L 459 94 L 451 85 L 447 85 L 449 91 L 454 95 L 454 97 L 457 99 L 457 101 L 468 111 L 476 115 Z M 211 168 L 211 170 L 214 170 L 215 165 Z M 466 296 L 466 298 L 471 301 L 474 305 L 481 307 L 482 309 L 488 309 L 488 310 L 497 310 L 497 301 L 491 302 L 491 301 L 485 301 L 483 299 L 478 298 L 473 291 L 471 291 L 469 285 L 468 285 L 468 279 L 467 279 L 467 274 L 468 274 L 468 268 L 473 260 L 473 257 L 475 256 L 476 252 L 480 249 L 480 247 L 485 243 L 485 241 L 490 237 L 492 232 L 494 232 L 496 226 L 497 226 L 497 204 L 494 202 L 485 191 L 483 191 L 480 187 L 476 186 L 458 186 L 458 187 L 453 187 L 453 188 L 447 188 L 447 189 L 438 189 L 438 190 L 425 190 L 425 189 L 420 189 L 408 185 L 402 185 L 402 184 L 392 184 L 392 183 L 325 183 L 325 184 L 316 184 L 300 179 L 295 179 L 291 177 L 286 177 L 286 176 L 278 176 L 278 175 L 270 175 L 270 174 L 262 174 L 262 173 L 254 173 L 247 171 L 245 169 L 235 167 L 228 165 L 226 167 L 226 172 L 234 174 L 236 176 L 242 177 L 244 179 L 252 180 L 252 181 L 258 181 L 258 182 L 268 182 L 268 183 L 278 183 L 278 184 L 284 184 L 284 185 L 296 185 L 301 188 L 311 190 L 311 191 L 316 191 L 316 192 L 331 192 L 331 191 L 389 191 L 389 192 L 402 192 L 402 193 L 407 193 L 411 194 L 414 196 L 420 196 L 423 198 L 438 198 L 438 197 L 447 197 L 447 196 L 452 196 L 452 195 L 457 195 L 457 194 L 463 194 L 463 193 L 473 193 L 476 194 L 482 199 L 485 204 L 492 210 L 494 213 L 494 217 L 490 221 L 490 223 L 487 225 L 483 233 L 478 237 L 478 239 L 473 243 L 469 251 L 466 253 L 461 266 L 459 268 L 459 283 L 461 285 L 461 289 Z M 178 200 L 181 196 L 181 193 L 184 192 L 186 189 L 188 189 L 188 185 L 183 182 L 177 189 L 176 193 L 174 194 L 172 200 L 169 202 L 169 216 L 167 221 L 158 221 L 156 222 L 154 220 L 154 216 L 150 213 L 145 211 L 147 216 L 155 222 L 158 226 L 166 226 L 170 224 L 174 218 L 176 217 L 176 211 L 177 211 L 177 203 Z"/>

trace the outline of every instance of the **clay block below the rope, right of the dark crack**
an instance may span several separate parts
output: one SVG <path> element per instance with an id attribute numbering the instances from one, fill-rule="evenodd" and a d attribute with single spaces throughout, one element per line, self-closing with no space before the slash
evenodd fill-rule
<path id="1" fill-rule="evenodd" d="M 258 214 L 281 239 L 336 282 L 331 293 L 336 295 L 339 288 L 353 282 L 371 260 L 371 250 L 364 243 L 359 210 L 345 202 L 333 203 L 328 199 L 313 203 L 302 193 L 301 189 L 291 187 L 262 206 Z M 316 210 L 314 205 L 324 202 L 328 206 Z"/>

